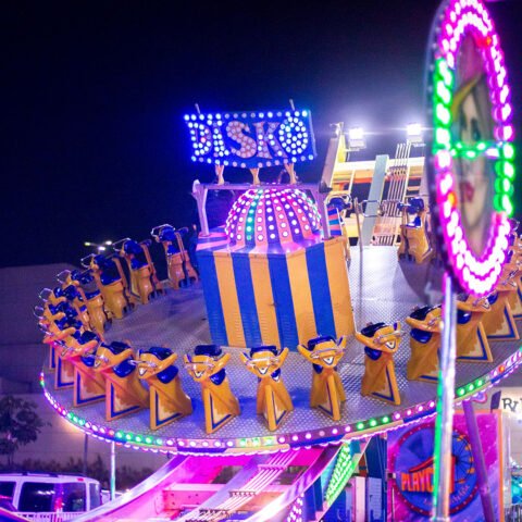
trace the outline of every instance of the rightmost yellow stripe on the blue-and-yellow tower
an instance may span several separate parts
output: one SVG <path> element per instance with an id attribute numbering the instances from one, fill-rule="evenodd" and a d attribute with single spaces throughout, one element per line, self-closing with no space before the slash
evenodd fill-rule
<path id="1" fill-rule="evenodd" d="M 335 238 L 324 241 L 324 254 L 334 311 L 335 332 L 337 336 L 352 335 L 356 328 L 343 239 Z"/>

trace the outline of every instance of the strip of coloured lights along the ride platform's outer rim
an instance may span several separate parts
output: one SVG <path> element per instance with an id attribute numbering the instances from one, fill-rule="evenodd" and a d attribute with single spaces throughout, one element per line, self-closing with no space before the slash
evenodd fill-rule
<path id="1" fill-rule="evenodd" d="M 504 362 L 490 370 L 487 374 L 462 386 L 458 386 L 455 394 L 456 401 L 460 402 L 461 400 L 493 386 L 501 378 L 511 374 L 521 362 L 522 347 Z M 388 430 L 400 427 L 410 422 L 421 421 L 422 419 L 432 417 L 436 413 L 436 405 L 432 399 L 417 406 L 410 406 L 365 421 L 356 421 L 348 425 L 343 424 L 330 428 L 309 430 L 294 434 L 222 439 L 165 438 L 150 433 L 133 433 L 98 425 L 89 419 L 78 417 L 76 411 L 69 411 L 60 405 L 60 402 L 58 402 L 47 389 L 46 375 L 44 373 L 40 374 L 40 385 L 42 386 L 45 396 L 51 406 L 74 426 L 103 440 L 115 442 L 116 444 L 133 447 L 135 449 L 139 448 L 145 451 L 158 450 L 181 453 L 220 455 L 227 451 L 233 451 L 234 453 L 247 453 L 252 451 L 279 451 L 288 448 L 297 449 L 301 447 L 311 447 L 314 444 L 338 443 L 341 440 L 364 438 L 369 435 L 384 433 Z"/>

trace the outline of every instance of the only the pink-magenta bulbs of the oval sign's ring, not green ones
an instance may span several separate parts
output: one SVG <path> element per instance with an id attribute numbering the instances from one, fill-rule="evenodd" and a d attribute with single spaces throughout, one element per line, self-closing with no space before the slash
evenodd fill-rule
<path id="1" fill-rule="evenodd" d="M 456 69 L 456 53 L 465 35 L 472 35 L 481 47 L 493 114 L 496 120 L 494 135 L 497 140 L 512 140 L 514 135 L 510 123 L 512 105 L 510 89 L 505 83 L 507 71 L 504 53 L 498 35 L 482 1 L 452 1 L 442 16 L 439 28 L 435 59 L 444 60 L 440 63 L 449 67 L 447 70 L 449 74 Z M 447 147 L 449 146 L 450 144 Z M 452 159 L 447 147 L 443 146 L 442 150 L 436 151 L 434 161 L 444 241 L 448 246 L 448 258 L 460 285 L 467 291 L 482 297 L 489 294 L 498 283 L 508 248 L 506 240 L 510 232 L 509 223 L 505 212 L 493 214 L 486 249 L 480 258 L 476 258 L 463 232 L 458 200 L 453 191 Z M 495 153 L 496 150 L 493 152 Z M 489 151 L 485 151 L 485 156 L 495 157 Z"/>

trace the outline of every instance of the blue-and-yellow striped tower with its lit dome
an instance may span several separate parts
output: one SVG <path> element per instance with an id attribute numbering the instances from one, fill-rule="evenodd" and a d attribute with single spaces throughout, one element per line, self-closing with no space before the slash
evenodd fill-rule
<path id="1" fill-rule="evenodd" d="M 225 227 L 200 237 L 198 263 L 216 345 L 297 350 L 355 332 L 345 240 L 323 240 L 315 203 L 300 190 L 243 194 Z"/>

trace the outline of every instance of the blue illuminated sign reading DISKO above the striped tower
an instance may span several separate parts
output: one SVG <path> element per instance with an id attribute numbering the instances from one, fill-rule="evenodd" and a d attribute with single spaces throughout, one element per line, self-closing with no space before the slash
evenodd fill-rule
<path id="1" fill-rule="evenodd" d="M 257 169 L 313 160 L 310 111 L 186 114 L 192 161 Z"/>

